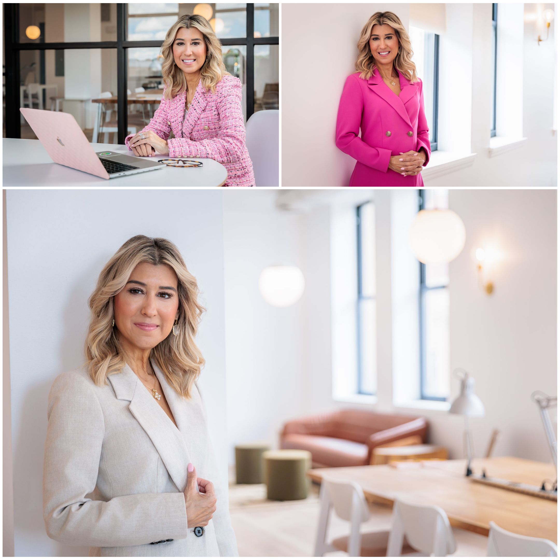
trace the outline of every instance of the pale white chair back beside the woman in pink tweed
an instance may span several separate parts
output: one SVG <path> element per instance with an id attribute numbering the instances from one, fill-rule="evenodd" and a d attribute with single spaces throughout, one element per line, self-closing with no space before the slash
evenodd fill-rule
<path id="1" fill-rule="evenodd" d="M 257 111 L 245 127 L 245 144 L 253 162 L 255 186 L 279 186 L 279 112 L 274 109 Z"/>

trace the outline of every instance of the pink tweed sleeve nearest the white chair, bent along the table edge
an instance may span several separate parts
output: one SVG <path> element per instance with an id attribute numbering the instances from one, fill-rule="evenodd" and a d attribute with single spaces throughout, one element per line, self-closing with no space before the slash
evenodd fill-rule
<path id="1" fill-rule="evenodd" d="M 241 111 L 241 82 L 233 81 L 225 91 L 217 91 L 220 131 L 216 138 L 190 140 L 172 138 L 170 157 L 208 157 L 221 164 L 241 161 L 245 153 L 245 125 Z"/>

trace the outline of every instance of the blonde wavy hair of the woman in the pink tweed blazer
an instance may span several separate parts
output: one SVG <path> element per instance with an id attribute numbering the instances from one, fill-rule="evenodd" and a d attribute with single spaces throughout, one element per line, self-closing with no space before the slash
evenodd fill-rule
<path id="1" fill-rule="evenodd" d="M 216 37 L 208 20 L 198 15 L 185 15 L 181 16 L 169 28 L 164 43 L 161 45 L 161 54 L 164 57 L 164 62 L 161 64 L 161 75 L 166 86 L 165 99 L 172 99 L 175 95 L 186 90 L 185 74 L 175 64 L 175 59 L 173 58 L 173 42 L 175 41 L 177 31 L 181 27 L 186 29 L 194 27 L 202 33 L 204 43 L 206 43 L 207 57 L 202 68 L 200 68 L 200 80 L 206 91 L 212 90 L 212 93 L 215 93 L 216 85 L 222 79 L 222 76 L 224 74 L 229 75 L 229 72 L 226 72 L 226 66 L 222 59 L 222 44 Z"/>

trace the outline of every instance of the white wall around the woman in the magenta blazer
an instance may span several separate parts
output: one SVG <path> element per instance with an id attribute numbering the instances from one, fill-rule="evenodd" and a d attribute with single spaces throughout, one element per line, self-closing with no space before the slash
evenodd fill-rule
<path id="1" fill-rule="evenodd" d="M 498 14 L 502 6 L 502 12 L 515 10 L 499 4 Z M 522 103 L 522 115 L 519 108 L 514 113 L 508 109 L 521 122 L 512 128 L 498 119 L 498 136 L 522 127 L 527 141 L 490 157 L 492 4 L 446 4 L 446 32 L 440 35 L 438 151 L 449 157 L 476 156 L 473 165 L 463 169 L 431 177 L 426 171 L 428 188 L 557 184 L 554 73 L 550 71 L 556 67 L 556 20 L 549 40 L 540 46 L 536 40 L 539 32 L 544 36 L 539 20 L 545 8 L 554 4 L 520 4 L 518 20 L 522 20 L 516 26 L 524 30 L 522 54 L 516 58 L 515 70 L 508 71 L 507 77 L 502 73 L 498 84 L 498 105 L 510 108 L 514 101 L 519 105 L 519 97 Z M 283 186 L 348 185 L 355 161 L 334 144 L 338 102 L 344 80 L 354 72 L 362 26 L 373 13 L 384 10 L 394 11 L 408 29 L 409 4 L 320 4 L 320 9 L 318 4 L 283 4 L 282 80 L 284 86 L 297 84 L 282 90 L 282 154 L 284 162 L 290 162 L 282 168 Z M 335 39 L 330 33 L 333 22 Z M 498 45 L 498 64 L 510 68 L 505 45 L 507 41 Z"/>

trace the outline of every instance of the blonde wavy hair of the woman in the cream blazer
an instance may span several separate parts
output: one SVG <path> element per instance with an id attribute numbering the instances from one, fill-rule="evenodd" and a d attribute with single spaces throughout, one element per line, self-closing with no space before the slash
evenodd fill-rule
<path id="1" fill-rule="evenodd" d="M 196 278 L 186 269 L 183 257 L 171 241 L 161 237 L 136 235 L 126 241 L 109 259 L 97 279 L 88 305 L 91 309 L 85 353 L 88 373 L 97 386 L 107 385 L 107 377 L 118 374 L 125 365 L 118 330 L 113 327 L 114 298 L 128 282 L 139 263 L 165 264 L 178 279 L 179 317 L 177 335 L 169 334 L 150 351 L 171 387 L 190 398 L 192 386 L 204 366 L 204 358 L 194 342 L 200 316 L 205 311 L 198 303 Z"/>

